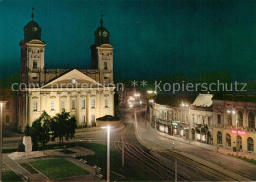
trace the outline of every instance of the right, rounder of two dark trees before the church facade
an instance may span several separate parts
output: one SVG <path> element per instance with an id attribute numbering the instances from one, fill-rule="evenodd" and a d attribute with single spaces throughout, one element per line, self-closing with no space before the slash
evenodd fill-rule
<path id="1" fill-rule="evenodd" d="M 59 138 L 60 144 L 63 144 L 63 139 L 65 140 L 72 139 L 75 134 L 75 129 L 77 127 L 77 121 L 74 116 L 70 116 L 69 112 L 62 111 L 58 113 L 51 122 L 52 130 L 52 141 L 55 141 L 56 138 Z"/>

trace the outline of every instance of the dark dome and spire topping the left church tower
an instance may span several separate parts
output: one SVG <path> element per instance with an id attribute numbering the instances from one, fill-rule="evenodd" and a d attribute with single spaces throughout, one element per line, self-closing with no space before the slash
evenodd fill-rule
<path id="1" fill-rule="evenodd" d="M 32 9 L 32 20 L 24 27 L 24 41 L 29 42 L 32 39 L 41 40 L 41 27 L 33 20 L 34 14 Z"/>

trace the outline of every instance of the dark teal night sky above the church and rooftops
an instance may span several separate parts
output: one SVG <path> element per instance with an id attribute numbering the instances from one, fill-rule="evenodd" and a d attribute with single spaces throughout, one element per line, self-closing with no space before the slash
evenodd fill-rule
<path id="1" fill-rule="evenodd" d="M 229 71 L 237 80 L 256 79 L 255 0 L 0 0 L 0 78 L 19 71 L 32 7 L 48 67 L 89 64 L 102 10 L 115 77 Z"/>

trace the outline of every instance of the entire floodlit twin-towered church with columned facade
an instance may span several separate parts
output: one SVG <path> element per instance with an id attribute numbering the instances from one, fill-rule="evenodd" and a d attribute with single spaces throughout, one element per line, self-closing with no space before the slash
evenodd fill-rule
<path id="1" fill-rule="evenodd" d="M 70 112 L 80 127 L 94 125 L 96 118 L 114 115 L 114 47 L 109 43 L 110 33 L 103 26 L 102 16 L 90 47 L 90 69 L 46 68 L 46 43 L 41 33 L 32 10 L 32 20 L 24 27 L 20 42 L 20 82 L 24 87 L 18 94 L 18 126 L 31 126 L 43 111 L 50 116 Z"/>

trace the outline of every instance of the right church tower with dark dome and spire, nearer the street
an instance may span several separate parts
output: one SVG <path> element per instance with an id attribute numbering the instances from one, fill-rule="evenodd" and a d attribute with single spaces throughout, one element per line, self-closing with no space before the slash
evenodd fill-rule
<path id="1" fill-rule="evenodd" d="M 91 49 L 91 68 L 99 72 L 100 83 L 113 83 L 113 50 L 110 45 L 110 33 L 103 26 L 103 15 L 101 14 L 100 26 L 96 29 L 95 43 Z"/>

